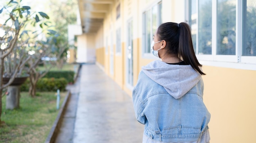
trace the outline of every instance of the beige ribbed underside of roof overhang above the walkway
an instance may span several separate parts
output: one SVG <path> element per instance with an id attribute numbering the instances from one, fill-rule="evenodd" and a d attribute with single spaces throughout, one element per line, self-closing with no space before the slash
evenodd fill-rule
<path id="1" fill-rule="evenodd" d="M 114 0 L 78 0 L 83 33 L 97 33 Z"/>

